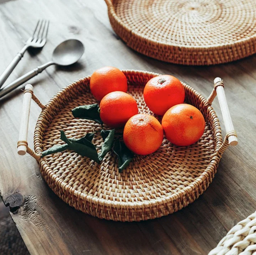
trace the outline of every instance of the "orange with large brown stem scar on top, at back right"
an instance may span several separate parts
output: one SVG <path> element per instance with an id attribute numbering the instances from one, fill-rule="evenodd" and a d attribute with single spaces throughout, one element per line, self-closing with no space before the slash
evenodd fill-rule
<path id="1" fill-rule="evenodd" d="M 164 115 L 172 106 L 184 102 L 185 90 L 174 76 L 160 75 L 147 82 L 143 95 L 146 105 L 152 112 Z"/>

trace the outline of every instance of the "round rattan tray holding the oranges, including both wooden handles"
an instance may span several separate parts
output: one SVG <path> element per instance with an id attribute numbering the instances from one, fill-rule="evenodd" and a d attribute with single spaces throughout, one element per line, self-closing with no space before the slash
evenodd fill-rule
<path id="1" fill-rule="evenodd" d="M 143 99 L 147 81 L 158 75 L 146 71 L 123 71 L 129 82 L 128 93 L 137 101 L 139 112 L 150 113 Z M 217 79 L 217 78 L 216 78 Z M 185 87 L 189 104 L 201 110 L 206 121 L 204 135 L 188 147 L 174 146 L 164 139 L 155 153 L 136 156 L 122 173 L 114 153 L 108 153 L 101 164 L 67 150 L 41 158 L 42 151 L 62 143 L 60 130 L 67 137 L 80 138 L 86 132 L 101 129 L 92 120 L 75 119 L 71 109 L 96 103 L 89 90 L 90 77 L 82 78 L 59 91 L 43 105 L 27 85 L 18 153 L 27 151 L 39 163 L 41 174 L 51 189 L 66 203 L 99 218 L 119 221 L 154 219 L 176 212 L 201 195 L 214 178 L 222 153 L 237 143 L 236 133 L 226 105 L 223 83 L 215 81 L 215 90 L 206 100 L 189 85 Z M 218 94 L 228 132 L 222 142 L 219 120 L 211 107 Z M 31 97 L 42 108 L 34 132 L 34 149 L 27 146 L 28 116 Z M 106 126 L 104 128 L 107 128 Z M 100 135 L 93 141 L 102 143 Z"/>

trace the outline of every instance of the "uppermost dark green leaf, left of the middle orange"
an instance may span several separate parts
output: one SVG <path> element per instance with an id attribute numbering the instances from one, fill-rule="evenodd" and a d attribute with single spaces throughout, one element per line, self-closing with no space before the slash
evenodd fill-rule
<path id="1" fill-rule="evenodd" d="M 103 124 L 102 120 L 100 119 L 98 104 L 78 106 L 72 109 L 72 113 L 75 118 L 90 119 Z"/>

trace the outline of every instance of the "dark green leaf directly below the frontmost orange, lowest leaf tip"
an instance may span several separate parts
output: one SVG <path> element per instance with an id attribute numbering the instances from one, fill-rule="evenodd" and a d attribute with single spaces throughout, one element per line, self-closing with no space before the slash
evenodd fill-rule
<path id="1" fill-rule="evenodd" d="M 113 151 L 118 157 L 118 170 L 121 173 L 127 167 L 127 165 L 129 165 L 129 163 L 132 161 L 132 159 L 134 158 L 134 155 L 132 151 L 130 151 L 126 147 L 124 142 L 120 142 L 119 139 L 115 141 Z"/>

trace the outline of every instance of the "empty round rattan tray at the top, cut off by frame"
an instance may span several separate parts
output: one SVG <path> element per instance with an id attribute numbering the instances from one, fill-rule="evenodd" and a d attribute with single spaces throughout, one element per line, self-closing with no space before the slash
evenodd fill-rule
<path id="1" fill-rule="evenodd" d="M 132 49 L 177 64 L 230 62 L 256 52 L 255 0 L 105 0 Z"/>

